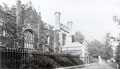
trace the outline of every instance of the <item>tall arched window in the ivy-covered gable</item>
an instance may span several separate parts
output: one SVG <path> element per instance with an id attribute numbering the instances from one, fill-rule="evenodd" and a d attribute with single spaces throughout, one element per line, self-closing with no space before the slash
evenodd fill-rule
<path id="1" fill-rule="evenodd" d="M 34 49 L 34 33 L 28 29 L 24 31 L 24 48 Z"/>

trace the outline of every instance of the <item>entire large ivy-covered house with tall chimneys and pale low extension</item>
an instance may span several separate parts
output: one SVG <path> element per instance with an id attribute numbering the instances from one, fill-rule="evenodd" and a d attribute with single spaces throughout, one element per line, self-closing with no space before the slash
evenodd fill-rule
<path id="1" fill-rule="evenodd" d="M 15 23 L 18 32 L 24 35 L 23 48 L 85 55 L 86 42 L 84 44 L 72 43 L 73 22 L 68 21 L 67 25 L 62 24 L 60 15 L 60 12 L 55 13 L 54 27 L 42 21 L 41 12 L 37 12 L 31 2 L 22 4 L 20 0 L 17 0 L 16 6 L 12 8 L 0 6 L 0 26 L 9 22 Z M 0 29 L 0 36 L 6 35 L 7 33 Z"/>

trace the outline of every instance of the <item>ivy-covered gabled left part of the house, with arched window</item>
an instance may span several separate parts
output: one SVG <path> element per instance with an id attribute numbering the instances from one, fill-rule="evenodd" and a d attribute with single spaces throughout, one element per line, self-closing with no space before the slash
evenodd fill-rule
<path id="1" fill-rule="evenodd" d="M 12 8 L 0 6 L 0 26 L 8 22 L 16 23 L 18 28 L 24 33 L 24 48 L 41 49 L 41 44 L 47 42 L 47 38 L 53 39 L 53 26 L 41 20 L 41 12 L 37 12 L 31 2 L 22 4 L 17 0 Z M 0 29 L 0 35 L 6 36 L 6 32 Z M 46 41 L 43 41 L 43 40 Z M 49 41 L 46 45 L 53 46 L 54 41 Z"/>

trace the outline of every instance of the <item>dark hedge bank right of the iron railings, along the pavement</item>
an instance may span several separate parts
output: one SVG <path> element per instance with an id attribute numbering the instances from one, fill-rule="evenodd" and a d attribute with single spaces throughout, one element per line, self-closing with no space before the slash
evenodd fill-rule
<path id="1" fill-rule="evenodd" d="M 56 67 L 66 67 L 66 66 L 74 66 L 81 65 L 83 62 L 74 56 L 69 55 L 45 55 L 41 54 L 41 56 L 33 55 L 33 64 L 29 62 L 29 66 L 37 66 L 38 68 L 56 68 Z M 30 60 L 30 59 L 28 59 Z M 36 65 L 34 63 L 37 63 Z M 34 67 L 33 66 L 33 67 Z"/>

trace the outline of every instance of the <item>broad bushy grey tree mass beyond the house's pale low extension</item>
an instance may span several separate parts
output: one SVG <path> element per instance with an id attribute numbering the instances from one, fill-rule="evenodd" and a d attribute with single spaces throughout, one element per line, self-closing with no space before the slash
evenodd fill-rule
<path id="1" fill-rule="evenodd" d="M 102 44 L 97 40 L 88 43 L 88 52 L 90 56 L 98 57 L 100 55 L 104 59 L 110 59 L 113 55 L 111 45 Z"/>

